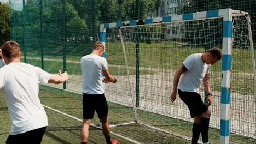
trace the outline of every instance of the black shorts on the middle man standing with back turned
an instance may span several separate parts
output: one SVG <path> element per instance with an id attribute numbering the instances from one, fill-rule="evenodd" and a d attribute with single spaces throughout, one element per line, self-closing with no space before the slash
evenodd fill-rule
<path id="1" fill-rule="evenodd" d="M 98 118 L 108 115 L 108 104 L 105 94 L 83 94 L 83 116 L 84 119 L 94 118 L 94 112 L 97 112 Z"/>

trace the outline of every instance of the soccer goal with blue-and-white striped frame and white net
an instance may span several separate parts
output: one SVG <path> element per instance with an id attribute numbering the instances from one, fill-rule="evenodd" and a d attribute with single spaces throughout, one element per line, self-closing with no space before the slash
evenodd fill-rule
<path id="1" fill-rule="evenodd" d="M 210 69 L 210 127 L 220 129 L 220 143 L 229 143 L 230 133 L 256 138 L 256 73 L 249 13 L 221 9 L 104 23 L 100 39 L 109 69 L 119 80 L 118 85 L 106 85 L 107 100 L 131 107 L 132 119 L 138 124 L 186 139 L 190 134 L 173 133 L 185 127 L 184 121 L 193 122 L 178 94 L 174 103 L 170 101 L 174 73 L 192 53 L 219 47 L 222 61 Z M 203 87 L 200 94 L 204 97 Z"/>

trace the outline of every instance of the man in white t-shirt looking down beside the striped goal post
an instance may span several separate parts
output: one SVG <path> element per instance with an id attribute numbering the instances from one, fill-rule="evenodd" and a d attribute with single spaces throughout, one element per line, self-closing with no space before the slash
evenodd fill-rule
<path id="1" fill-rule="evenodd" d="M 208 79 L 210 65 L 218 62 L 221 58 L 222 52 L 218 48 L 210 49 L 206 53 L 190 55 L 174 75 L 171 101 L 175 101 L 178 88 L 179 97 L 188 106 L 191 118 L 194 118 L 193 144 L 197 144 L 201 132 L 203 144 L 209 143 L 208 130 L 211 112 L 199 95 L 199 86 L 203 82 L 208 95 L 208 106 L 210 106 L 212 103 L 210 81 Z"/>

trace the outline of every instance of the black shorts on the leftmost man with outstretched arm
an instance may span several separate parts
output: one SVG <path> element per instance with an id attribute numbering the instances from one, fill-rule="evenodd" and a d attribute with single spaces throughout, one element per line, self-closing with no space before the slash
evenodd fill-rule
<path id="1" fill-rule="evenodd" d="M 33 143 L 40 144 L 46 127 L 34 129 L 31 131 L 27 131 L 26 133 L 18 134 L 18 135 L 9 135 L 6 144 L 16 144 L 16 143 Z"/>

